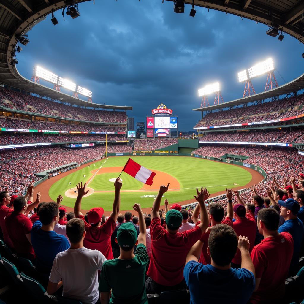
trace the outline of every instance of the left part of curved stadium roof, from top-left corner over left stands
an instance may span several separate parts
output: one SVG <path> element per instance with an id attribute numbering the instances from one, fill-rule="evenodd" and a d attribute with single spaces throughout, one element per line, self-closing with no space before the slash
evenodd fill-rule
<path id="1" fill-rule="evenodd" d="M 76 3 L 89 0 L 75 1 Z M 15 65 L 11 65 L 11 52 L 15 48 L 20 35 L 26 34 L 33 26 L 44 21 L 46 16 L 54 11 L 72 4 L 72 0 L 1 0 L 0 1 L 0 82 L 19 88 L 23 91 L 35 93 L 51 99 L 62 100 L 73 105 L 96 107 L 102 109 L 132 110 L 131 106 L 116 106 L 91 103 L 74 98 L 68 94 L 58 92 L 44 85 L 22 77 Z M 93 3 L 92 3 L 93 5 Z M 30 39 L 30 37 L 29 37 Z M 62 99 L 61 99 L 62 98 Z"/>

